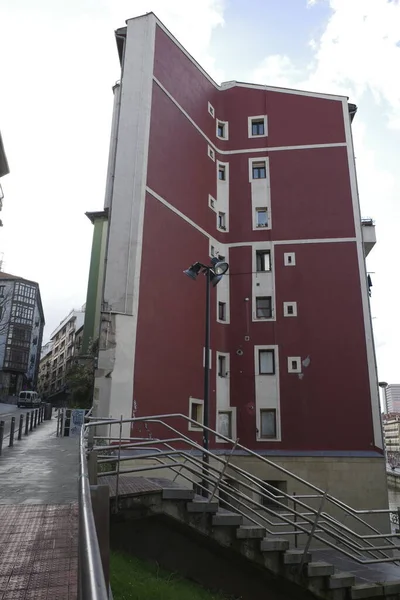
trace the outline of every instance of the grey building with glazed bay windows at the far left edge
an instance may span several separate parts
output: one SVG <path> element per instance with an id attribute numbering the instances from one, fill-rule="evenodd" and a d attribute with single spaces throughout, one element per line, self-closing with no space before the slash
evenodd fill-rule
<path id="1" fill-rule="evenodd" d="M 0 272 L 0 395 L 37 385 L 44 314 L 39 285 Z"/>

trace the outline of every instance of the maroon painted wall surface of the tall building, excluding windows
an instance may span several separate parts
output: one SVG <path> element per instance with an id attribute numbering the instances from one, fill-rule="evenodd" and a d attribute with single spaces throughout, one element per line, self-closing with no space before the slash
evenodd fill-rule
<path id="1" fill-rule="evenodd" d="M 216 428 L 214 357 L 220 351 L 230 354 L 230 404 L 236 407 L 236 434 L 243 445 L 278 452 L 376 450 L 364 282 L 355 241 L 359 224 L 342 100 L 245 86 L 218 89 L 159 26 L 155 44 L 150 191 L 134 365 L 136 414 L 187 415 L 189 397 L 203 398 L 205 282 L 193 282 L 182 273 L 195 261 L 210 260 L 201 228 L 232 244 L 229 324 L 217 321 L 212 290 L 211 427 Z M 228 140 L 216 137 L 208 102 L 218 119 L 229 122 Z M 267 137 L 248 137 L 251 115 L 268 116 Z M 271 229 L 252 226 L 248 159 L 260 153 L 251 151 L 216 153 L 217 160 L 229 163 L 230 172 L 229 231 L 217 229 L 215 212 L 208 206 L 208 195 L 217 194 L 216 163 L 192 121 L 221 150 L 272 149 L 262 152 L 269 159 Z M 327 239 L 335 241 L 313 243 Z M 272 265 L 276 319 L 254 322 L 248 319 L 244 299 L 252 296 L 250 244 L 262 241 L 279 242 Z M 296 253 L 295 268 L 284 266 L 285 252 Z M 297 302 L 296 318 L 283 316 L 288 300 Z M 256 440 L 255 345 L 279 348 L 281 441 Z M 287 372 L 288 356 L 309 358 L 303 377 Z M 193 435 L 200 441 L 200 433 Z M 211 443 L 220 447 L 215 439 Z"/>

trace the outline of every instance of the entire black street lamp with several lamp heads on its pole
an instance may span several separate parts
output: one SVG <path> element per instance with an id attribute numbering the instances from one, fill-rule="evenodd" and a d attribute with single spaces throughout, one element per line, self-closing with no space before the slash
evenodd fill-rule
<path id="1" fill-rule="evenodd" d="M 206 277 L 206 327 L 204 341 L 204 404 L 203 404 L 203 480 L 202 495 L 208 496 L 208 464 L 209 464 L 209 441 L 210 432 L 210 284 L 215 287 L 228 271 L 228 263 L 222 260 L 222 257 L 213 258 L 211 265 L 203 265 L 200 262 L 194 263 L 189 269 L 183 271 L 185 275 L 196 280 L 200 272 Z"/>

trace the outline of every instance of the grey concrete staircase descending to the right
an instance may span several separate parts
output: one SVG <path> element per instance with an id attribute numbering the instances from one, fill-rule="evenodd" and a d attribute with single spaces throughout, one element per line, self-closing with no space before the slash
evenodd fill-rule
<path id="1" fill-rule="evenodd" d="M 398 581 L 356 580 L 353 573 L 338 570 L 333 562 L 315 560 L 312 553 L 304 552 L 304 549 L 290 549 L 286 539 L 266 536 L 262 527 L 245 523 L 242 515 L 220 508 L 215 500 L 209 502 L 196 496 L 189 488 L 179 487 L 169 480 L 123 479 L 130 480 L 130 489 L 126 494 L 121 490 L 118 507 L 113 499 L 112 484 L 108 482 L 113 513 L 129 515 L 129 519 L 164 515 L 179 523 L 180 527 L 189 528 L 220 547 L 229 548 L 245 561 L 266 569 L 269 574 L 291 582 L 299 592 L 308 592 L 311 597 L 326 600 L 386 597 L 400 600 L 400 568 Z M 135 494 L 135 479 L 151 483 L 149 491 L 145 492 L 142 484 L 140 492 Z"/>

